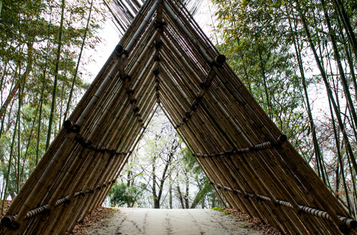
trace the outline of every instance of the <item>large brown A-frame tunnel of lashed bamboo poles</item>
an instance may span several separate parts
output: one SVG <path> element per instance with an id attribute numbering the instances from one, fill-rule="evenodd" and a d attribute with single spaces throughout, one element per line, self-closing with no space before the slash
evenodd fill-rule
<path id="1" fill-rule="evenodd" d="M 63 234 L 100 205 L 158 105 L 230 207 L 283 234 L 357 222 L 253 99 L 180 1 L 148 0 L 1 219 Z"/>

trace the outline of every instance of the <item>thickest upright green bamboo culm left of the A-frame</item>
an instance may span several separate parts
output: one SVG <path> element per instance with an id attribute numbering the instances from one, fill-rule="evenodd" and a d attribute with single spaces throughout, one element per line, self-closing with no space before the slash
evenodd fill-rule
<path id="1" fill-rule="evenodd" d="M 54 122 L 54 108 L 56 106 L 56 91 L 57 91 L 57 83 L 59 76 L 59 59 L 61 58 L 61 45 L 62 45 L 62 30 L 64 26 L 64 0 L 62 0 L 61 5 L 61 23 L 59 26 L 59 46 L 57 48 L 57 56 L 56 56 L 56 68 L 54 71 L 54 90 L 52 92 L 52 105 L 51 105 L 51 115 L 49 116 L 49 131 L 47 132 L 47 141 L 46 141 L 46 150 L 49 148 L 49 142 L 51 140 L 51 132 L 52 132 L 52 122 Z"/>

